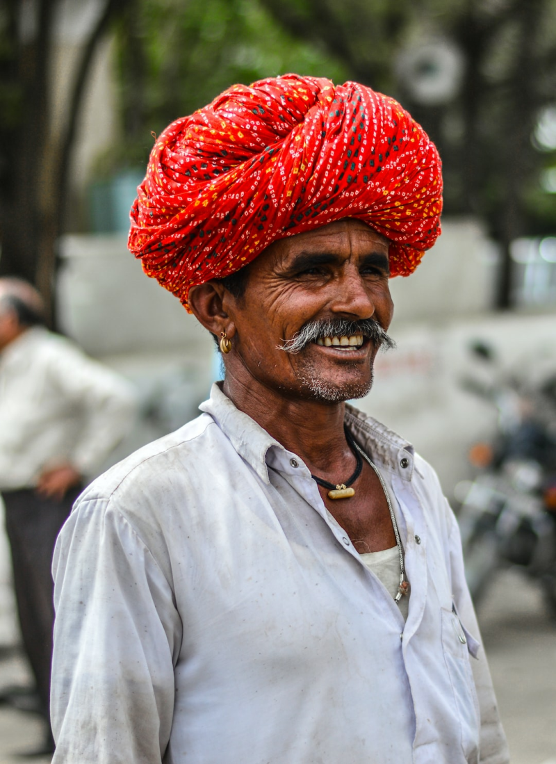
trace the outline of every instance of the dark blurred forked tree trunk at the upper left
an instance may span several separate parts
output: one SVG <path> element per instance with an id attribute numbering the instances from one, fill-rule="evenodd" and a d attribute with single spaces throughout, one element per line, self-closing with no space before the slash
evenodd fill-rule
<path id="1" fill-rule="evenodd" d="M 130 0 L 106 0 L 82 48 L 67 98 L 66 124 L 58 138 L 48 129 L 50 50 L 53 6 L 40 0 L 38 34 L 21 47 L 15 70 L 24 78 L 21 121 L 13 131 L 8 180 L 0 201 L 0 274 L 22 277 L 37 286 L 53 324 L 57 241 L 63 232 L 71 155 L 87 77 L 100 40 Z"/>

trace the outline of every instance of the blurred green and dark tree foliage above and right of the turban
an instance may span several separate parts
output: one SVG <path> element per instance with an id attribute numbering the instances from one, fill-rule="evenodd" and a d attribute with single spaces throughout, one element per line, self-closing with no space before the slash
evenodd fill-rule
<path id="1" fill-rule="evenodd" d="M 425 104 L 403 56 L 440 43 L 464 61 L 461 87 Z M 502 238 L 508 204 L 536 225 L 525 186 L 556 162 L 531 142 L 539 110 L 556 102 L 556 0 L 136 0 L 118 52 L 125 140 L 107 166 L 144 166 L 151 131 L 231 83 L 287 71 L 358 79 L 398 98 L 438 144 L 446 212 L 480 215 Z"/>

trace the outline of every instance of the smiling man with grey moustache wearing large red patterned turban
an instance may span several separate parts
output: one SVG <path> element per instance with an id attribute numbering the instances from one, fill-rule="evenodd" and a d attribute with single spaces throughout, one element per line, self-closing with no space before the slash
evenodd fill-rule
<path id="1" fill-rule="evenodd" d="M 344 403 L 440 211 L 435 147 L 357 83 L 234 86 L 157 139 L 130 247 L 225 380 L 60 536 L 56 764 L 508 761 L 435 473 Z"/>

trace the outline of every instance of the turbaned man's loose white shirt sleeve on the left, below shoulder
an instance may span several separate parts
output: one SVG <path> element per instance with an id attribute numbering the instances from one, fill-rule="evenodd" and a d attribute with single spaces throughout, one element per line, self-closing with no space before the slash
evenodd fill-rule
<path id="1" fill-rule="evenodd" d="M 181 620 L 128 520 L 82 500 L 57 542 L 53 764 L 157 764 L 170 740 Z"/>

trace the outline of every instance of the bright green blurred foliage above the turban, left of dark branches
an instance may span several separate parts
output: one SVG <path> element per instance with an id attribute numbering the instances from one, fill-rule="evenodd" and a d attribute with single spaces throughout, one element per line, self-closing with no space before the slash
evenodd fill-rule
<path id="1" fill-rule="evenodd" d="M 140 0 L 118 26 L 124 139 L 102 164 L 144 167 L 159 134 L 234 83 L 286 72 L 348 76 L 325 46 L 296 40 L 257 0 Z"/>

